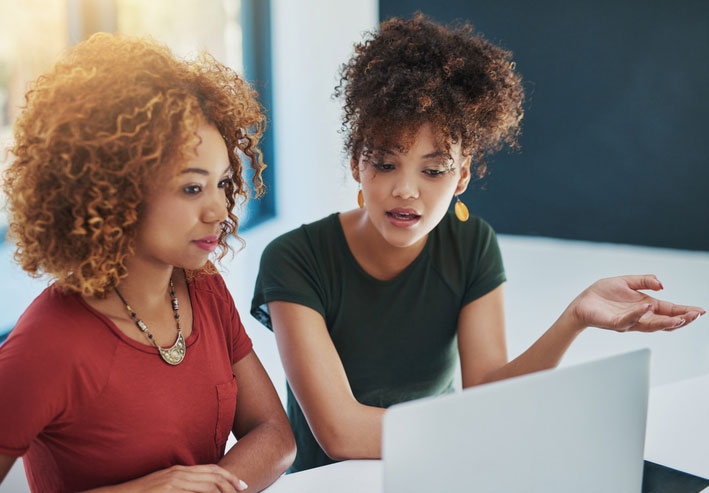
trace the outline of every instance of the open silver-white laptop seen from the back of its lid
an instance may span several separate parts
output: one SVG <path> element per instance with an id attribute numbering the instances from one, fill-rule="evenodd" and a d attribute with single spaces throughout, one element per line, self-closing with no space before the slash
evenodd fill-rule
<path id="1" fill-rule="evenodd" d="M 641 491 L 650 351 L 397 404 L 384 493 Z"/>

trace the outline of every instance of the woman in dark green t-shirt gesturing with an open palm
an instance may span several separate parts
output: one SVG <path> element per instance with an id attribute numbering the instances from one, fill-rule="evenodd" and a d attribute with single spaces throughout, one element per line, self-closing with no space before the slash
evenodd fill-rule
<path id="1" fill-rule="evenodd" d="M 640 293 L 662 289 L 654 276 L 604 279 L 508 362 L 495 233 L 461 202 L 447 210 L 486 155 L 517 145 L 511 54 L 469 26 L 391 19 L 355 47 L 336 94 L 360 207 L 274 240 L 251 308 L 288 377 L 292 470 L 380 457 L 385 408 L 451 392 L 458 360 L 470 387 L 556 366 L 588 326 L 673 330 L 704 313 Z"/>

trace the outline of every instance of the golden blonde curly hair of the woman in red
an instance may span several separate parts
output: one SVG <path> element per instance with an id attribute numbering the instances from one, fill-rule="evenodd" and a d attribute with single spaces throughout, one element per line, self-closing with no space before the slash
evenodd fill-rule
<path id="1" fill-rule="evenodd" d="M 205 120 L 224 138 L 232 170 L 223 258 L 229 236 L 243 244 L 233 210 L 249 196 L 244 157 L 255 196 L 263 191 L 256 97 L 207 54 L 183 61 L 152 40 L 105 33 L 77 45 L 33 83 L 15 123 L 3 189 L 16 261 L 60 288 L 105 295 L 126 275 L 144 193 L 161 170 L 194 156 Z"/>

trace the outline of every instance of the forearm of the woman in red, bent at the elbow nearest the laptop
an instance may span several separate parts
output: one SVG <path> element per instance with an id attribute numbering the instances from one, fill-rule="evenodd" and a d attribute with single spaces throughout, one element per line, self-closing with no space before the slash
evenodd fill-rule
<path id="1" fill-rule="evenodd" d="M 290 425 L 263 423 L 240 438 L 219 461 L 224 469 L 248 484 L 246 491 L 261 491 L 283 474 L 295 459 Z"/>

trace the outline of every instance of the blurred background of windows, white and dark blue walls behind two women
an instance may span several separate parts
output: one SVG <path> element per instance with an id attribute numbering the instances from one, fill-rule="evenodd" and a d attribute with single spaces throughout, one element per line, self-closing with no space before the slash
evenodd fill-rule
<path id="1" fill-rule="evenodd" d="M 96 31 L 150 35 L 181 56 L 207 50 L 251 81 L 269 130 L 268 193 L 241 211 L 246 249 L 222 263 L 282 398 L 273 335 L 249 315 L 263 248 L 356 207 L 342 153 L 340 64 L 362 34 L 421 10 L 469 20 L 514 53 L 528 94 L 521 150 L 490 161 L 464 201 L 499 233 L 510 357 L 594 280 L 655 273 L 661 297 L 709 307 L 709 4 L 627 0 L 0 0 L 0 145 L 28 83 Z M 7 160 L 0 153 L 0 167 Z M 0 341 L 47 281 L 12 261 L 0 213 Z M 563 365 L 639 347 L 651 384 L 709 373 L 709 319 L 674 333 L 588 330 Z M 11 398 L 11 396 L 3 396 Z M 25 491 L 20 461 L 0 492 Z"/>

